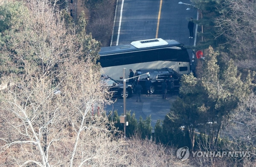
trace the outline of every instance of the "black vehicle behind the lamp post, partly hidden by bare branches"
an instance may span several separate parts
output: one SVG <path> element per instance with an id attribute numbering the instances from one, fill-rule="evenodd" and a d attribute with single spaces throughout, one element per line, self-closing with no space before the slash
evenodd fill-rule
<path id="1" fill-rule="evenodd" d="M 108 88 L 108 93 L 111 93 L 113 98 L 123 97 L 124 83 L 110 78 L 108 75 L 101 75 L 102 85 Z M 127 98 L 131 97 L 133 93 L 133 86 L 131 83 L 126 82 L 126 94 Z"/>

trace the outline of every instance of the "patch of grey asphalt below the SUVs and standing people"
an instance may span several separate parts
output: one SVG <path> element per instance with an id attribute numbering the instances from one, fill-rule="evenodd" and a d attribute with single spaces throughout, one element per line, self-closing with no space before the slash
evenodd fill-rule
<path id="1" fill-rule="evenodd" d="M 162 99 L 161 94 L 153 94 L 151 96 L 141 95 L 141 102 L 136 102 L 136 95 L 126 99 L 126 110 L 135 113 L 137 120 L 140 116 L 143 120 L 151 115 L 151 126 L 154 128 L 158 119 L 164 120 L 166 114 L 170 112 L 172 104 L 175 101 L 177 95 L 167 94 L 167 99 Z M 123 115 L 123 99 L 119 98 L 114 104 L 106 106 L 106 111 L 109 113 L 113 110 L 117 110 L 118 115 Z"/>

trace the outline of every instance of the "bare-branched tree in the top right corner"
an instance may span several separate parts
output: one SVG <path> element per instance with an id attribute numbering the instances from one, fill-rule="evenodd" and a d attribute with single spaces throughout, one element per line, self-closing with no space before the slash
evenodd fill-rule
<path id="1" fill-rule="evenodd" d="M 224 0 L 223 9 L 220 9 L 224 13 L 216 19 L 219 33 L 227 37 L 228 43 L 226 44 L 231 46 L 230 52 L 240 61 L 255 58 L 254 4 L 254 0 Z"/>

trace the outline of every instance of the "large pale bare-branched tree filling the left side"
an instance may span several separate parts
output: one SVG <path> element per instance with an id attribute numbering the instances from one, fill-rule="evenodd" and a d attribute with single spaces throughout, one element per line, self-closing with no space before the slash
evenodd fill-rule
<path id="1" fill-rule="evenodd" d="M 90 53 L 82 52 L 76 34 L 50 6 L 47 0 L 29 1 L 28 21 L 13 34 L 13 56 L 23 73 L 3 77 L 0 165 L 119 164 L 125 154 L 116 154 L 115 129 L 102 113 L 109 101 L 99 70 L 82 59 Z"/>

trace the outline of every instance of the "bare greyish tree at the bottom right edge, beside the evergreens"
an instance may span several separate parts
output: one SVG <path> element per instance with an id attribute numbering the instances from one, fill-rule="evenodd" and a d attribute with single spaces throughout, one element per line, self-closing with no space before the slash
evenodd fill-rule
<path id="1" fill-rule="evenodd" d="M 250 151 L 250 156 L 240 157 L 236 163 L 244 166 L 255 164 L 256 147 L 256 95 L 253 93 L 239 104 L 239 107 L 226 119 L 224 135 L 229 136 L 230 142 L 226 150 Z M 242 161 L 241 161 L 242 160 Z"/>

